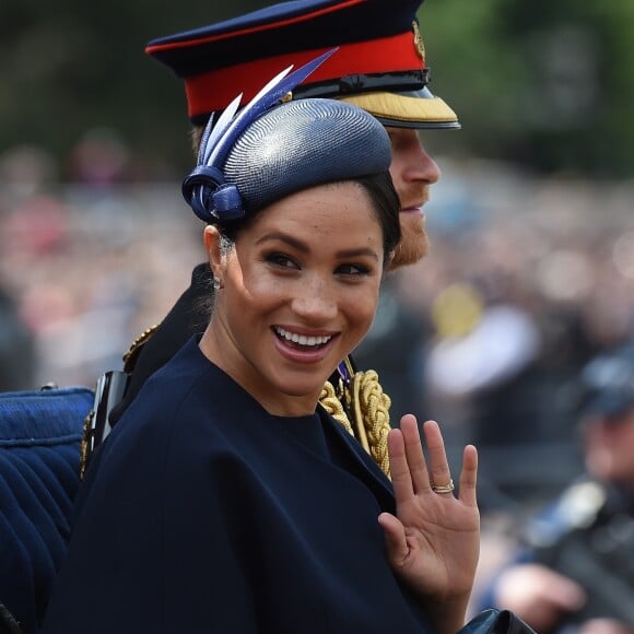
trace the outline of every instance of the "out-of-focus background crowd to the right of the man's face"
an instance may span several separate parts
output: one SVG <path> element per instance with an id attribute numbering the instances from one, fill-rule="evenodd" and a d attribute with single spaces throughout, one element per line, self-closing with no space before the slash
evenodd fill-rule
<path id="1" fill-rule="evenodd" d="M 444 164 L 430 254 L 390 280 L 359 356 L 395 414 L 442 421 L 456 453 L 480 446 L 485 508 L 579 468 L 578 371 L 634 334 L 633 201 L 632 184 Z"/>

